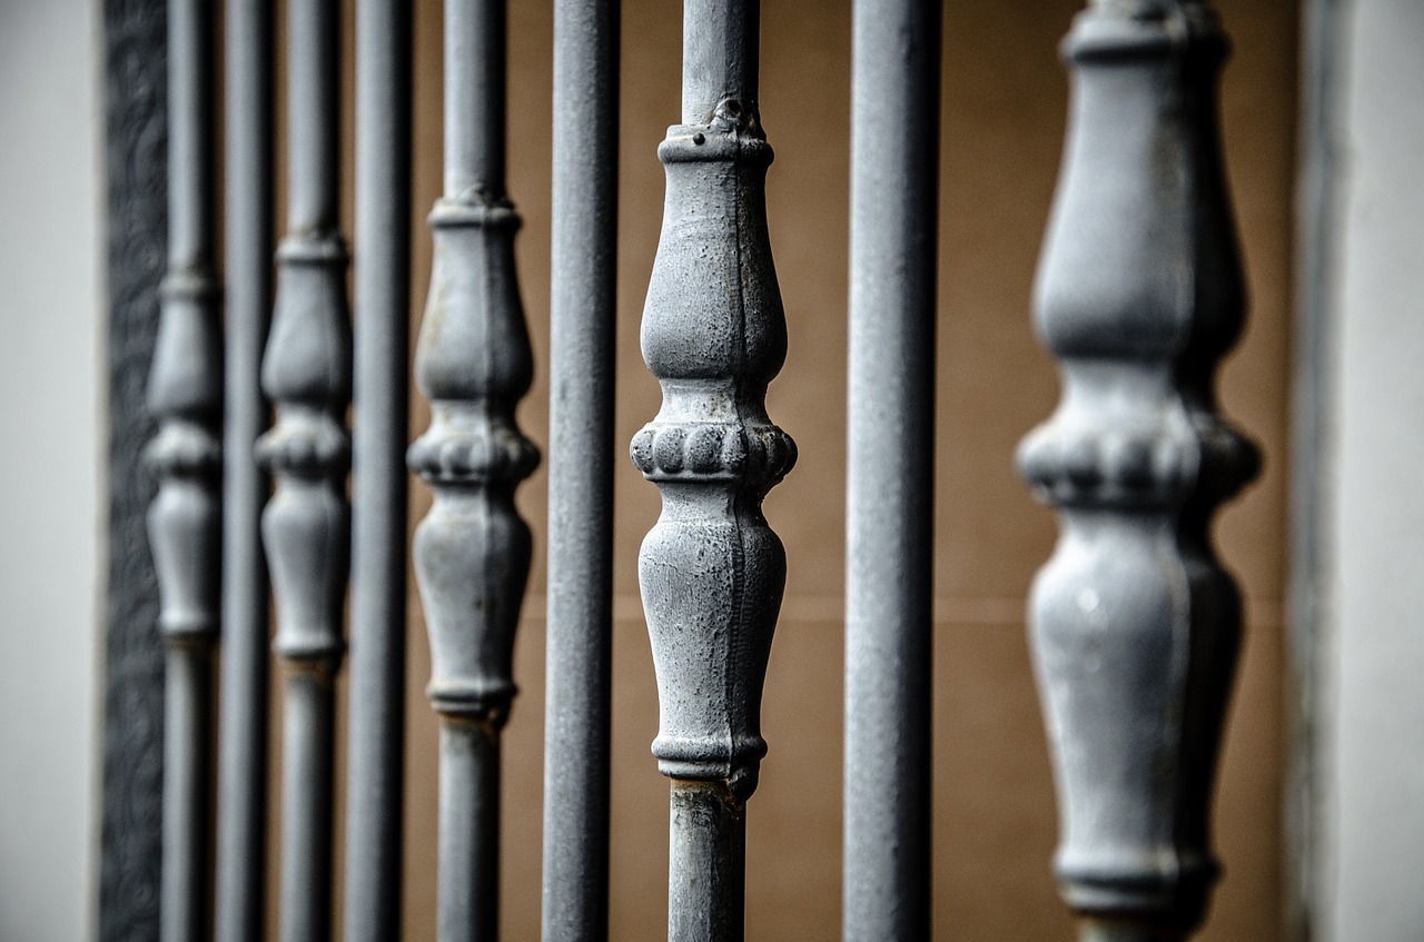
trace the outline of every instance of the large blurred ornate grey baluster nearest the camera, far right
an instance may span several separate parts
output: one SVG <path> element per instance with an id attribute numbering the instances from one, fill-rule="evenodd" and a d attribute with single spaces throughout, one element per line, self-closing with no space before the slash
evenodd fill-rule
<path id="1" fill-rule="evenodd" d="M 1257 468 L 1216 413 L 1245 305 L 1205 3 L 1101 0 L 1065 44 L 1067 165 L 1037 289 L 1064 398 L 1020 451 L 1062 532 L 1031 637 L 1082 939 L 1185 939 L 1218 865 L 1209 804 L 1240 598 L 1209 525 Z"/>

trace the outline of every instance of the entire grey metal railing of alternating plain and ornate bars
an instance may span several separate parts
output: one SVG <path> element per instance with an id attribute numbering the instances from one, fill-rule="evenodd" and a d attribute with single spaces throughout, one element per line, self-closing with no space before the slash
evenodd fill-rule
<path id="1" fill-rule="evenodd" d="M 286 9 L 288 235 L 261 391 L 272 7 L 226 7 L 225 376 L 212 23 L 195 0 L 168 11 L 169 272 L 148 454 L 169 652 L 169 941 L 261 938 L 261 470 L 275 482 L 262 542 L 286 676 L 281 938 L 332 933 L 347 559 L 345 933 L 399 933 L 412 11 L 355 6 L 353 351 L 337 219 L 340 4 Z M 766 218 L 759 3 L 686 0 L 684 11 L 682 115 L 658 148 L 666 202 L 642 320 L 662 407 L 631 453 L 662 497 L 638 568 L 661 707 L 652 750 L 672 780 L 668 933 L 733 942 L 786 578 L 762 499 L 796 445 L 766 413 L 787 337 Z M 618 30 L 612 0 L 555 3 L 545 942 L 608 935 Z M 538 450 L 515 423 L 533 353 L 514 270 L 520 216 L 506 194 L 506 31 L 504 0 L 446 0 L 444 195 L 429 219 L 434 265 L 414 363 L 431 420 L 404 455 L 434 492 L 410 552 L 441 727 L 443 942 L 498 938 L 500 740 L 533 559 L 515 509 Z M 940 36 L 940 3 L 854 3 L 843 935 L 856 942 L 930 933 Z M 1057 871 L 1084 939 L 1185 939 L 1216 878 L 1209 798 L 1240 600 L 1208 526 L 1257 465 L 1213 394 L 1243 307 L 1216 132 L 1225 51 L 1215 14 L 1193 0 L 1094 0 L 1065 44 L 1072 112 L 1035 303 L 1064 396 L 1020 467 L 1062 522 L 1032 592 L 1031 635 L 1059 790 Z M 269 406 L 275 423 L 259 437 Z"/>

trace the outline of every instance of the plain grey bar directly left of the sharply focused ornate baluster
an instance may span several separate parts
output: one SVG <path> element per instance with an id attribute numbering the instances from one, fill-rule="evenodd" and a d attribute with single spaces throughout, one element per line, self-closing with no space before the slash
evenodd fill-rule
<path id="1" fill-rule="evenodd" d="M 608 938 L 618 7 L 554 4 L 545 942 Z"/>

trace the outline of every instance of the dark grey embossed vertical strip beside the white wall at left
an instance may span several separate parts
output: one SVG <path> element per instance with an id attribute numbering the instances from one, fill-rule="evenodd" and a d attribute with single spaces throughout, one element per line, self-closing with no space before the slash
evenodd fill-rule
<path id="1" fill-rule="evenodd" d="M 98 942 L 154 939 L 162 899 L 164 640 L 144 451 L 168 238 L 168 9 L 104 0 L 108 515 Z"/>

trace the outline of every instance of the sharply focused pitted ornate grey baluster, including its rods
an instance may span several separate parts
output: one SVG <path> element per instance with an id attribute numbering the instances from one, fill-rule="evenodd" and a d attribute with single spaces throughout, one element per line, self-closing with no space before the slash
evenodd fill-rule
<path id="1" fill-rule="evenodd" d="M 786 555 L 762 498 L 796 447 L 766 416 L 786 320 L 766 232 L 772 149 L 758 110 L 759 4 L 686 0 L 682 124 L 642 354 L 662 408 L 632 458 L 662 494 L 638 558 L 658 674 L 652 751 L 672 781 L 668 938 L 743 935 L 746 800 L 766 754 L 762 684 Z"/>

